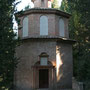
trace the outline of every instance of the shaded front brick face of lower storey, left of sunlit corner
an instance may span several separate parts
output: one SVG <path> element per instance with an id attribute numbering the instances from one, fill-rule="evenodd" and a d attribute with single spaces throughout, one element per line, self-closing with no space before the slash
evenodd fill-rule
<path id="1" fill-rule="evenodd" d="M 16 52 L 17 52 L 16 56 L 20 58 L 18 68 L 16 69 L 15 72 L 15 86 L 17 87 L 16 90 L 32 90 L 31 89 L 33 87 L 32 66 L 37 61 L 39 61 L 39 55 L 42 52 L 46 52 L 49 55 L 49 61 L 56 62 L 55 61 L 56 42 L 28 41 L 23 43 L 21 46 L 17 47 Z M 36 85 L 35 87 L 38 86 Z"/>

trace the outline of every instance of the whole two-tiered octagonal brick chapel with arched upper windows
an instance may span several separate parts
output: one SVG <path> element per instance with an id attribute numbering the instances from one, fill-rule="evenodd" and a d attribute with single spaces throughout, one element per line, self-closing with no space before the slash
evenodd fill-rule
<path id="1" fill-rule="evenodd" d="M 70 14 L 51 8 L 50 0 L 32 0 L 34 8 L 16 15 L 20 19 L 16 48 L 16 90 L 71 90 L 72 44 Z"/>

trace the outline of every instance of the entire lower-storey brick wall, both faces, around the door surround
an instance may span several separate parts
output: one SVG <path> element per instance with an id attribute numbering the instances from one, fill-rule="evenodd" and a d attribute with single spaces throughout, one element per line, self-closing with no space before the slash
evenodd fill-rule
<path id="1" fill-rule="evenodd" d="M 59 68 L 59 76 L 62 75 L 59 79 L 57 74 L 57 65 L 56 65 L 56 47 L 58 46 L 60 50 L 60 55 L 63 61 L 62 66 Z M 15 86 L 16 90 L 32 90 L 33 87 L 38 88 L 38 69 L 36 74 L 33 74 L 32 66 L 39 61 L 39 55 L 42 52 L 46 52 L 49 55 L 49 61 L 54 63 L 55 71 L 54 78 L 49 78 L 50 89 L 58 90 L 60 88 L 72 88 L 72 46 L 69 44 L 62 44 L 56 41 L 48 40 L 27 40 L 22 43 L 21 46 L 16 49 L 16 56 L 19 59 L 18 67 L 15 72 Z M 34 75 L 37 78 L 34 78 Z M 35 86 L 33 86 L 34 84 Z M 35 83 L 36 82 L 36 83 Z M 52 85 L 53 84 L 53 85 Z"/>

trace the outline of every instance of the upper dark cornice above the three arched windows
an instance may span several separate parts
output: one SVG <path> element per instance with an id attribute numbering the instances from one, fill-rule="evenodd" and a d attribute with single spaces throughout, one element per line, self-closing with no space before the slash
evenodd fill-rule
<path id="1" fill-rule="evenodd" d="M 57 9 L 53 9 L 53 8 L 31 8 L 26 11 L 18 12 L 15 15 L 18 17 L 22 17 L 29 14 L 56 14 L 66 18 L 69 18 L 71 16 L 71 14 L 69 13 L 66 13 Z"/>

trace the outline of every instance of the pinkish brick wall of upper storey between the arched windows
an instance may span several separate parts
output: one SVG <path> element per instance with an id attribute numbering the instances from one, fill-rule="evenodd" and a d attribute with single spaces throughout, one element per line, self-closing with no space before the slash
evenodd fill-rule
<path id="1" fill-rule="evenodd" d="M 60 16 L 54 15 L 54 14 L 30 14 L 28 15 L 29 19 L 29 36 L 39 36 L 40 35 L 40 16 L 45 15 L 48 18 L 48 35 L 51 36 L 59 36 L 59 18 Z M 18 31 L 19 37 L 22 37 L 22 30 L 23 30 L 23 18 L 25 16 L 21 17 L 21 26 L 22 27 Z M 65 37 L 69 38 L 68 35 L 68 19 L 63 17 L 63 20 L 65 22 Z"/>

